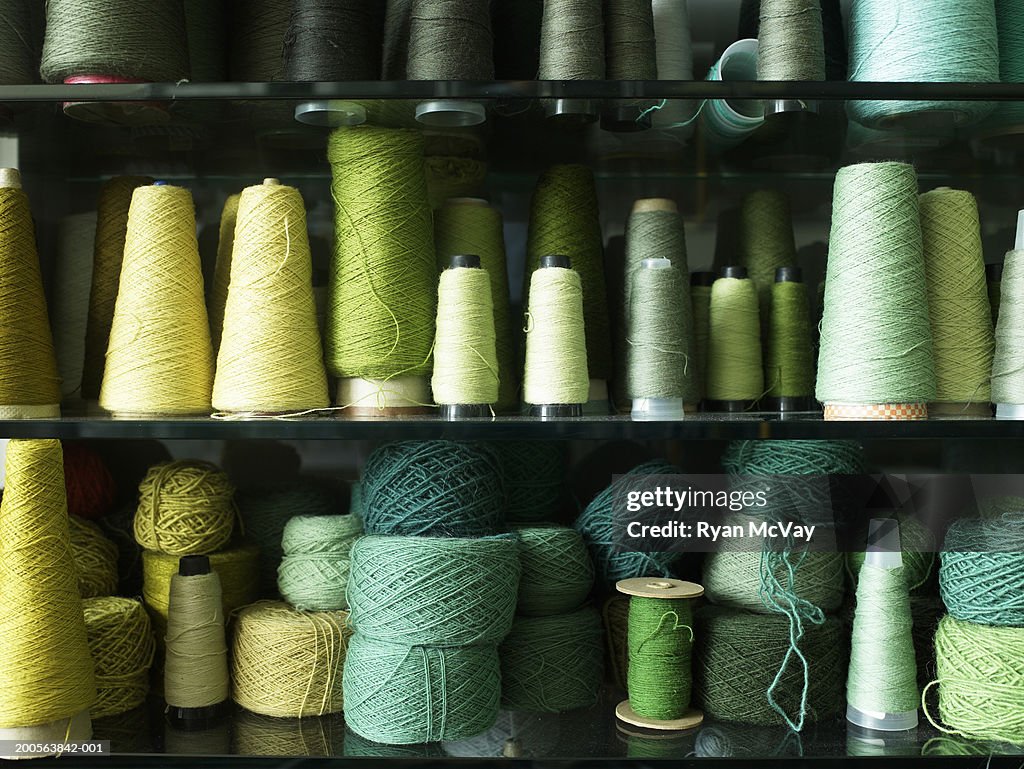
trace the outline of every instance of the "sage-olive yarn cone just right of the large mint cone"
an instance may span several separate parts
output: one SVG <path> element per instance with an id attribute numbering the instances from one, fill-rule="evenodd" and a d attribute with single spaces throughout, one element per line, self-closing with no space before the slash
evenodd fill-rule
<path id="1" fill-rule="evenodd" d="M 974 196 L 939 187 L 921 196 L 937 415 L 991 416 L 995 344 Z"/>

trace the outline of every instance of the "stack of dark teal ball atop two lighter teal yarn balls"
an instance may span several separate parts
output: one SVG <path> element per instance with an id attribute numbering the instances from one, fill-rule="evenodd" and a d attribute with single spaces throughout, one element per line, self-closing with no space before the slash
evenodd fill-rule
<path id="1" fill-rule="evenodd" d="M 498 647 L 519 586 L 499 460 L 482 445 L 391 443 L 361 488 L 370 536 L 351 552 L 345 721 L 387 744 L 480 734 L 498 717 Z"/>

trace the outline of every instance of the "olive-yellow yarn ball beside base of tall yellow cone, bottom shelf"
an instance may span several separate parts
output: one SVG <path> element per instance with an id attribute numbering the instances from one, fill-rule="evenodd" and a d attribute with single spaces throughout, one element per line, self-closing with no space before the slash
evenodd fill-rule
<path id="1" fill-rule="evenodd" d="M 82 601 L 89 652 L 96 667 L 93 718 L 138 708 L 150 693 L 150 666 L 157 650 L 153 626 L 134 598 L 88 598 Z"/>

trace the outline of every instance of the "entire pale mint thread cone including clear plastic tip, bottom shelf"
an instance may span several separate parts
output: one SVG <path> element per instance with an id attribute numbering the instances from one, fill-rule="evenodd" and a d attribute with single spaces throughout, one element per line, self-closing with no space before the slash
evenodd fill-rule
<path id="1" fill-rule="evenodd" d="M 905 731 L 918 726 L 921 693 L 897 522 L 871 520 L 867 547 L 857 582 L 846 718 L 864 729 Z"/>

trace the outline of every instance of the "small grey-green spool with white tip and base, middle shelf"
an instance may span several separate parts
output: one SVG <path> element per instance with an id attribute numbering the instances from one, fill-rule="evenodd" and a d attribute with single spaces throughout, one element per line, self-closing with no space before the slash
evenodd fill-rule
<path id="1" fill-rule="evenodd" d="M 684 416 L 689 362 L 689 329 L 680 301 L 684 296 L 682 279 L 669 259 L 644 259 L 633 276 L 626 361 L 636 421 Z"/>

